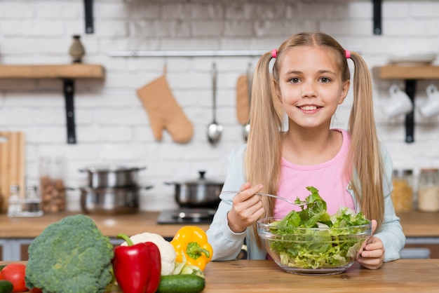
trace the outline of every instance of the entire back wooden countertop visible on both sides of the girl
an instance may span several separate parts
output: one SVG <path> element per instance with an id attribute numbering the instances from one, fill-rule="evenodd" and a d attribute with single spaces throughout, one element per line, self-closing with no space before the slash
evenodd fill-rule
<path id="1" fill-rule="evenodd" d="M 0 238 L 35 238 L 49 224 L 73 213 L 45 214 L 43 217 L 8 218 L 0 214 Z M 118 233 L 158 233 L 172 237 L 182 224 L 156 224 L 159 212 L 139 212 L 123 215 L 90 215 L 105 236 L 116 237 Z M 403 231 L 407 237 L 439 237 L 439 212 L 398 213 Z M 208 224 L 197 224 L 207 230 Z"/>

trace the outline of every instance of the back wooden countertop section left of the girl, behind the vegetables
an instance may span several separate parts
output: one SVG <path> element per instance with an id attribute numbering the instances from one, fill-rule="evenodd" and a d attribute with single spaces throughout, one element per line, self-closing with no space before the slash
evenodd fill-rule
<path id="1" fill-rule="evenodd" d="M 35 238 L 46 229 L 49 224 L 58 222 L 63 217 L 74 213 L 44 214 L 42 217 L 15 217 L 9 218 L 6 214 L 0 215 L 0 238 Z M 102 215 L 91 214 L 97 228 L 104 236 L 116 238 L 117 234 L 125 233 L 157 233 L 163 237 L 173 237 L 182 224 L 156 224 L 159 212 L 138 212 L 136 214 Z M 209 225 L 199 224 L 207 230 Z"/>

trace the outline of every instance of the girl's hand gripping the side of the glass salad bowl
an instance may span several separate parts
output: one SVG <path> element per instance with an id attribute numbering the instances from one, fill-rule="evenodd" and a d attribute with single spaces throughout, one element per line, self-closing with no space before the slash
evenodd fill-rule
<path id="1" fill-rule="evenodd" d="M 377 221 L 372 220 L 372 234 L 375 229 L 377 229 Z M 367 240 L 363 252 L 360 253 L 358 257 L 358 263 L 365 268 L 370 268 L 372 270 L 381 268 L 384 261 L 384 245 L 383 242 L 374 236 Z"/>

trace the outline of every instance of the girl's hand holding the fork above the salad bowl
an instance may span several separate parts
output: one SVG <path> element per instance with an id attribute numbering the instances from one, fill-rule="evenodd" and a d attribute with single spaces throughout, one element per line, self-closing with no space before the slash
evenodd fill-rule
<path id="1" fill-rule="evenodd" d="M 262 184 L 258 184 L 250 188 L 250 183 L 248 182 L 241 186 L 241 192 L 236 194 L 232 200 L 231 210 L 227 214 L 227 221 L 231 231 L 234 231 L 234 233 L 243 232 L 264 214 L 261 196 L 255 194 L 263 187 Z"/>

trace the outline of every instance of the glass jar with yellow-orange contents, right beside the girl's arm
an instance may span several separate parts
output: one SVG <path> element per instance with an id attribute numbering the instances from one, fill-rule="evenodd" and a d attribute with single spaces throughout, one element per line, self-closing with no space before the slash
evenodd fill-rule
<path id="1" fill-rule="evenodd" d="M 392 201 L 396 212 L 409 212 L 413 209 L 412 170 L 393 170 Z"/>

